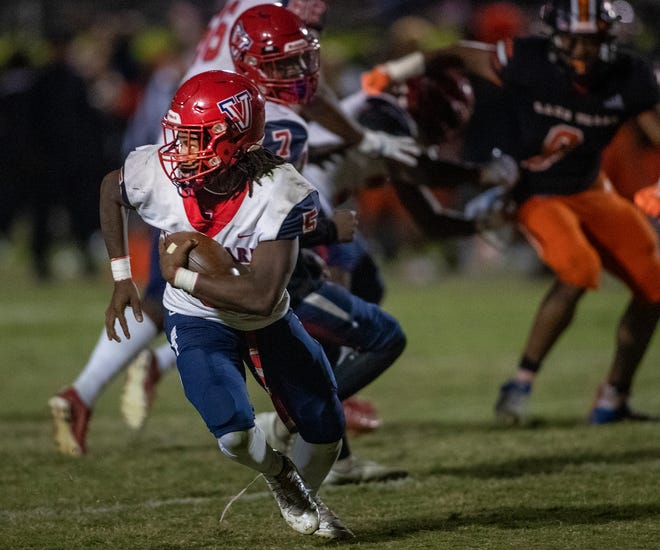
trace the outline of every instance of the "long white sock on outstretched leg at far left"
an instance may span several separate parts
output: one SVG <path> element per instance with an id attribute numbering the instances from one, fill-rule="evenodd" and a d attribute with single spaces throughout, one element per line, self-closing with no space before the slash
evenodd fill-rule
<path id="1" fill-rule="evenodd" d="M 103 387 L 142 349 L 147 347 L 158 333 L 154 322 L 143 313 L 143 321 L 138 323 L 130 309 L 126 310 L 126 323 L 131 333 L 130 338 L 122 338 L 121 342 L 108 340 L 105 330 L 101 333 L 87 364 L 73 387 L 87 406 L 92 407 Z M 121 327 L 117 323 L 117 331 Z"/>

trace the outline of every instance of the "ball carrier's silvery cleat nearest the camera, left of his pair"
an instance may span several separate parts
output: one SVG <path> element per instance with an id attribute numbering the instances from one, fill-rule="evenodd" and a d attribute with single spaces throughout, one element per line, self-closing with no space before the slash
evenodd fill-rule
<path id="1" fill-rule="evenodd" d="M 311 535 L 318 531 L 320 524 L 316 502 L 293 462 L 285 456 L 282 460 L 282 471 L 276 476 L 264 475 L 264 479 L 289 527 L 303 535 Z"/>

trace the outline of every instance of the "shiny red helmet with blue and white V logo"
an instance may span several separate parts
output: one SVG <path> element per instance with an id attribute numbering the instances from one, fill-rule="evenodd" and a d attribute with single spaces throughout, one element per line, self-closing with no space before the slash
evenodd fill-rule
<path id="1" fill-rule="evenodd" d="M 204 176 L 224 170 L 264 136 L 265 101 L 246 77 L 207 71 L 184 82 L 161 124 L 165 138 L 158 155 L 183 196 L 205 184 Z"/>

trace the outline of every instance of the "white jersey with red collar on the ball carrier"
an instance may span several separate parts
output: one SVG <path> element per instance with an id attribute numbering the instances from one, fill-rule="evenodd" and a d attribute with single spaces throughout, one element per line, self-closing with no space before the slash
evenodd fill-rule
<path id="1" fill-rule="evenodd" d="M 182 198 L 163 171 L 158 146 L 146 145 L 130 153 L 122 169 L 125 200 L 149 225 L 164 233 L 200 231 L 219 242 L 235 260 L 249 264 L 262 241 L 312 231 L 318 216 L 315 189 L 290 164 L 276 167 L 239 199 L 224 203 L 217 213 L 201 216 L 194 198 Z M 217 218 L 217 219 L 214 219 Z M 205 306 L 187 292 L 167 285 L 163 305 L 170 311 L 219 321 L 239 330 L 256 330 L 281 318 L 289 308 L 285 291 L 269 317 Z"/>

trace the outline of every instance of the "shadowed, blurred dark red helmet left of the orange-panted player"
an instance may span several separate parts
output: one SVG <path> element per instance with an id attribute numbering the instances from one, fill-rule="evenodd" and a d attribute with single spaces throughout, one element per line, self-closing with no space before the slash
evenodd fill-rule
<path id="1" fill-rule="evenodd" d="M 408 80 L 407 105 L 421 137 L 440 144 L 465 128 L 474 112 L 474 90 L 458 66 L 444 66 Z"/>

